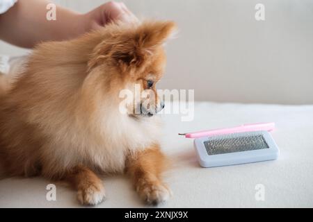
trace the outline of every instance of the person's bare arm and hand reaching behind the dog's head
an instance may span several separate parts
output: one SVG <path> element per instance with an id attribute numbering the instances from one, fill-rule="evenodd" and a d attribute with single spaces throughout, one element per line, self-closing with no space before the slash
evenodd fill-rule
<path id="1" fill-rule="evenodd" d="M 24 48 L 38 42 L 67 40 L 104 26 L 115 19 L 134 15 L 124 3 L 109 2 L 86 14 L 56 6 L 56 20 L 48 21 L 47 0 L 19 0 L 13 8 L 0 15 L 0 39 Z"/>

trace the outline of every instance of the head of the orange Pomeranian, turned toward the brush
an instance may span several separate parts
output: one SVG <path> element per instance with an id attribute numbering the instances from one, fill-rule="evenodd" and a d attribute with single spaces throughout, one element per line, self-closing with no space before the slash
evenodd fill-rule
<path id="1" fill-rule="evenodd" d="M 151 117 L 164 107 L 156 84 L 166 65 L 163 44 L 174 30 L 173 22 L 142 22 L 111 24 L 102 31 L 102 42 L 95 47 L 88 69 L 102 76 L 104 90 L 132 93 L 125 102 L 132 117 Z"/>

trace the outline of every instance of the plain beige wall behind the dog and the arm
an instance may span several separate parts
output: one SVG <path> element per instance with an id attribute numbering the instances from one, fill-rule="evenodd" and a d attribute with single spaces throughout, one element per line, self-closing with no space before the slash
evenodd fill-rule
<path id="1" fill-rule="evenodd" d="M 87 12 L 102 0 L 59 0 Z M 172 19 L 161 88 L 195 89 L 195 98 L 243 103 L 313 103 L 313 1 L 125 0 L 139 17 Z M 255 20 L 255 4 L 265 21 Z M 0 53 L 23 51 L 0 43 Z"/>

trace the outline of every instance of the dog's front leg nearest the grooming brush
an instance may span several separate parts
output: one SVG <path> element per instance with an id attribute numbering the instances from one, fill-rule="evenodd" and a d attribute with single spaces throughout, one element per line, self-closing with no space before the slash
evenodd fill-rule
<path id="1" fill-rule="evenodd" d="M 134 181 L 139 196 L 148 204 L 157 205 L 170 197 L 170 189 L 161 180 L 166 164 L 166 157 L 157 145 L 127 159 L 127 173 Z"/>

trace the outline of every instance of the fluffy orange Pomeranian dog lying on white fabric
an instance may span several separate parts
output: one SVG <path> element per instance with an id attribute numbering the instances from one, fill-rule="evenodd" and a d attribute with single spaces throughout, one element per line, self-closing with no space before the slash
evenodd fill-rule
<path id="1" fill-rule="evenodd" d="M 36 46 L 23 73 L 0 91 L 6 174 L 69 182 L 81 204 L 96 205 L 105 197 L 99 176 L 127 173 L 146 203 L 167 200 L 155 115 L 164 105 L 155 84 L 174 29 L 173 22 L 109 24 L 75 40 Z M 153 105 L 139 100 L 121 112 L 120 91 L 133 92 L 135 84 L 154 92 L 147 98 Z M 141 112 L 129 112 L 138 106 Z"/>

